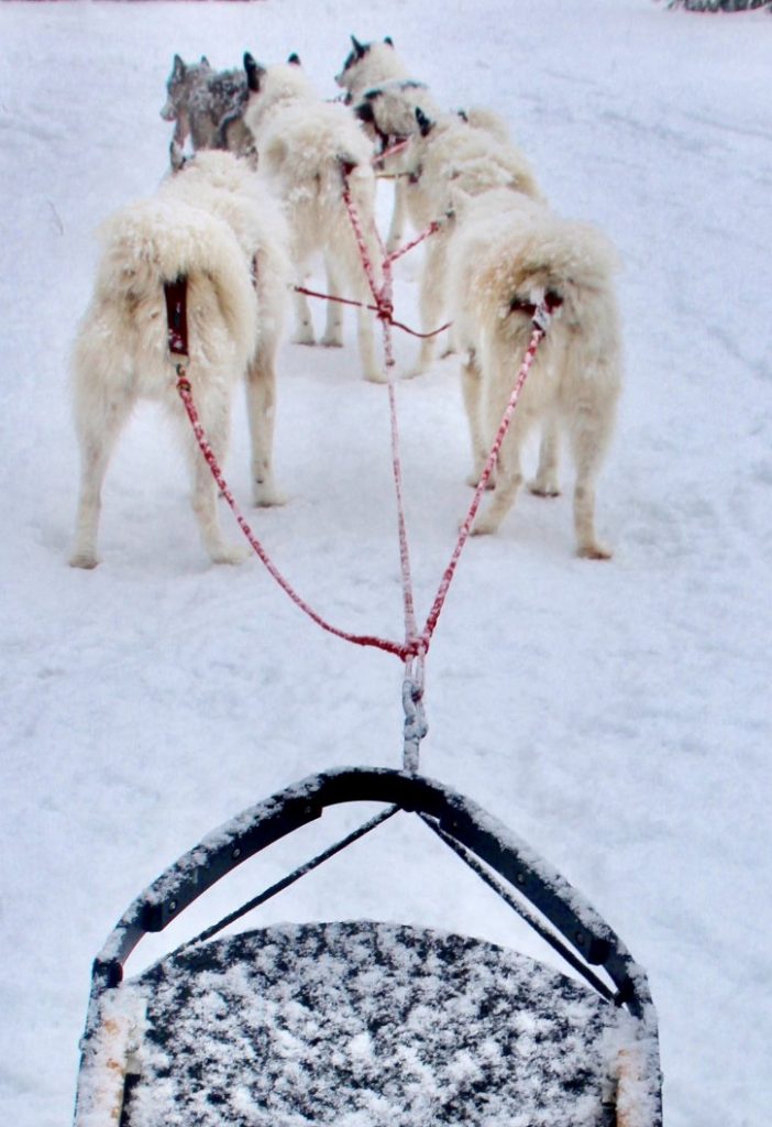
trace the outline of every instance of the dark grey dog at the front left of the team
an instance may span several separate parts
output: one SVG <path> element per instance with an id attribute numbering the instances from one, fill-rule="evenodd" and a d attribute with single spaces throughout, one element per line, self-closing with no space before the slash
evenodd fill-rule
<path id="1" fill-rule="evenodd" d="M 199 149 L 228 149 L 255 160 L 251 136 L 242 114 L 246 103 L 246 80 L 242 70 L 215 71 L 206 55 L 186 63 L 174 55 L 167 81 L 164 122 L 174 122 L 169 158 L 174 171 L 185 162 L 185 143 L 190 137 Z"/>

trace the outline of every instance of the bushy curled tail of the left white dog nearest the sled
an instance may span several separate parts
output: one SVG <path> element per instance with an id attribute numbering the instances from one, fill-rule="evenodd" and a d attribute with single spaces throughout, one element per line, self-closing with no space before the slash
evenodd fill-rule
<path id="1" fill-rule="evenodd" d="M 131 309 L 143 302 L 158 308 L 163 284 L 179 277 L 214 290 L 239 358 L 246 364 L 258 343 L 255 295 L 251 264 L 227 223 L 198 207 L 149 199 L 117 212 L 100 236 L 105 251 L 97 292 L 105 300 Z"/>

